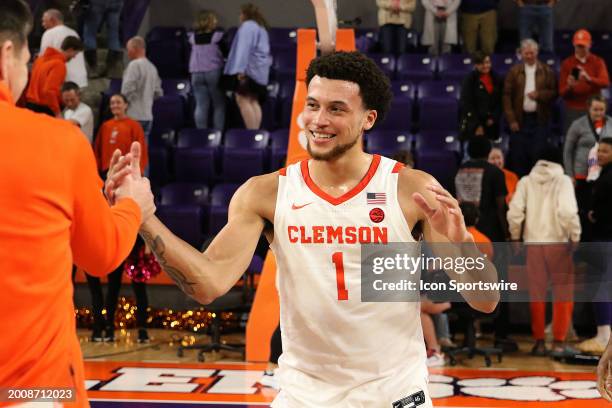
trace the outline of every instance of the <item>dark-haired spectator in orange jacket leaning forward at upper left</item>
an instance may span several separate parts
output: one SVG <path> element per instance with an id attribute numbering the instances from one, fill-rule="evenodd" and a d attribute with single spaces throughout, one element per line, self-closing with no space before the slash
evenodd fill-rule
<path id="1" fill-rule="evenodd" d="M 61 50 L 49 47 L 32 66 L 26 92 L 26 107 L 34 112 L 61 117 L 62 85 L 66 80 L 66 62 L 83 50 L 77 37 L 66 37 Z"/>

